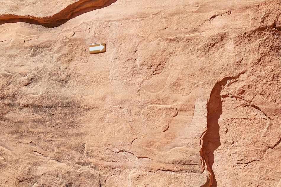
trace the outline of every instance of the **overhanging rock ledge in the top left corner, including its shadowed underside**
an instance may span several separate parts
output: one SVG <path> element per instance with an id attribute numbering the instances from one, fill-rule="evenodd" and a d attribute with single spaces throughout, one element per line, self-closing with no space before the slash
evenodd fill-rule
<path id="1" fill-rule="evenodd" d="M 26 22 L 57 27 L 77 15 L 101 9 L 116 0 L 3 1 L 0 24 Z"/>

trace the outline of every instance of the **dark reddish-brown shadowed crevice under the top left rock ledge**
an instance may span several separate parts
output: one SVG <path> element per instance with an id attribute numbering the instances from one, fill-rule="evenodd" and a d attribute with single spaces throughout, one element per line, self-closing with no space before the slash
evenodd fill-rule
<path id="1" fill-rule="evenodd" d="M 68 5 L 59 13 L 49 17 L 35 17 L 33 15 L 20 16 L 14 14 L 4 14 L 0 16 L 0 25 L 4 23 L 26 22 L 35 25 L 42 25 L 48 28 L 58 27 L 68 20 L 75 18 L 86 12 L 101 9 L 111 5 L 117 0 L 98 1 L 98 0 L 80 0 Z"/>

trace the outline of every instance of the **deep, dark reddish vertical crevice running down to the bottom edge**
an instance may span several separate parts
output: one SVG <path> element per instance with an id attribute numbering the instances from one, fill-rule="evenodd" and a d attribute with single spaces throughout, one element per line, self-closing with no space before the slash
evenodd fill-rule
<path id="1" fill-rule="evenodd" d="M 214 151 L 220 146 L 219 136 L 219 117 L 222 114 L 222 86 L 225 86 L 228 80 L 237 79 L 241 74 L 236 77 L 226 77 L 217 82 L 210 94 L 210 99 L 207 102 L 207 131 L 202 140 L 202 148 L 200 156 L 206 164 L 206 170 L 209 171 L 209 177 L 206 183 L 201 187 L 217 187 L 217 181 L 213 171 L 214 164 Z"/>

